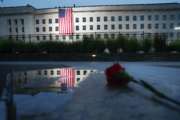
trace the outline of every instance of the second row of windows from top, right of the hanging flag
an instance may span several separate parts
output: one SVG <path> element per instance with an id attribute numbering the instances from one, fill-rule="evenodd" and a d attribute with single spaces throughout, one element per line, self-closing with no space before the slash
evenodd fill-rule
<path id="1" fill-rule="evenodd" d="M 180 26 L 180 23 L 178 24 L 178 26 Z M 138 27 L 139 27 L 139 29 L 144 29 L 145 25 L 144 24 L 140 24 L 140 25 L 132 24 L 132 26 L 130 26 L 129 24 L 124 24 L 124 25 L 119 24 L 118 26 L 116 26 L 115 24 L 111 24 L 110 26 L 108 26 L 108 25 L 103 25 L 103 26 L 97 25 L 96 28 L 94 28 L 93 25 L 89 25 L 89 30 L 101 30 L 102 29 L 101 27 L 103 27 L 104 30 L 108 30 L 108 27 L 110 27 L 111 30 L 115 30 L 115 29 L 121 30 L 123 28 L 126 30 L 129 30 L 130 27 L 132 27 L 132 29 L 138 29 Z M 118 27 L 118 28 L 116 28 L 116 27 Z M 154 29 L 160 29 L 160 27 L 162 29 L 167 29 L 167 28 L 174 29 L 174 23 L 170 23 L 169 25 L 163 23 L 163 24 L 161 24 L 161 26 L 158 23 L 147 24 L 147 29 L 153 29 L 153 28 Z M 80 30 L 80 26 L 76 25 L 76 31 L 79 31 L 79 30 Z M 87 30 L 87 26 L 83 25 L 82 30 Z"/>

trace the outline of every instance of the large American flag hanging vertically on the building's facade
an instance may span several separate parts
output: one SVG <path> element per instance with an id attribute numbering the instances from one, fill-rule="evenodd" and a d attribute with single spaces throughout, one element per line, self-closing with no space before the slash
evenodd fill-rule
<path id="1" fill-rule="evenodd" d="M 59 34 L 73 34 L 72 8 L 59 9 Z"/>

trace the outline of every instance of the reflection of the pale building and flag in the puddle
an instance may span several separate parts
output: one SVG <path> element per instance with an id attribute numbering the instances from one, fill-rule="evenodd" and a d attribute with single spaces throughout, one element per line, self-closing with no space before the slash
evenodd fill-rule
<path id="1" fill-rule="evenodd" d="M 96 70 L 70 67 L 39 69 L 14 72 L 13 79 L 16 87 L 61 87 L 65 83 L 68 88 L 73 88 L 93 72 Z"/>

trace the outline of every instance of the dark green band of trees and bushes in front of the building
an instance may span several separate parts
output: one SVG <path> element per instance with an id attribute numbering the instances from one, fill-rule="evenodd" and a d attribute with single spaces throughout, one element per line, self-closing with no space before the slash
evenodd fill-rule
<path id="1" fill-rule="evenodd" d="M 15 41 L 12 39 L 0 39 L 0 53 L 103 53 L 108 49 L 110 53 L 136 53 L 142 51 L 149 52 L 180 52 L 180 40 L 174 40 L 167 43 L 161 36 L 153 38 L 144 38 L 138 40 L 134 37 L 125 37 L 119 35 L 116 39 L 100 39 L 93 37 L 85 37 L 82 41 L 66 43 L 55 41 L 43 41 L 39 43 L 26 43 L 23 41 Z"/>

